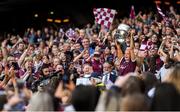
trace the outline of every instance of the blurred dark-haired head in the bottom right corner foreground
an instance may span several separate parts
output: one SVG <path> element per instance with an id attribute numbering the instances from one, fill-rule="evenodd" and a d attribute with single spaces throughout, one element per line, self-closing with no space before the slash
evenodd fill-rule
<path id="1" fill-rule="evenodd" d="M 156 86 L 152 99 L 151 110 L 173 111 L 180 110 L 180 96 L 173 84 L 161 83 Z"/>

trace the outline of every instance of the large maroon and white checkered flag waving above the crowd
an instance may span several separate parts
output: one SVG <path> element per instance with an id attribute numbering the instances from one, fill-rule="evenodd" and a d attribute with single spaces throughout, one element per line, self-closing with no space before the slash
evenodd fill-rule
<path id="1" fill-rule="evenodd" d="M 94 8 L 93 13 L 96 23 L 110 28 L 116 14 L 116 10 L 108 8 Z"/>

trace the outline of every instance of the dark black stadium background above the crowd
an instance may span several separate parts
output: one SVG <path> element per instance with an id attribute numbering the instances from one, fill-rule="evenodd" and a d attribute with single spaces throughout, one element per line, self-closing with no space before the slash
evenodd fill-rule
<path id="1" fill-rule="evenodd" d="M 163 10 L 167 10 L 169 2 L 179 9 L 179 0 L 161 0 Z M 0 0 L 0 32 L 23 32 L 28 26 L 41 28 L 49 23 L 47 18 L 69 19 L 71 25 L 82 26 L 93 22 L 93 8 L 108 7 L 118 11 L 117 17 L 128 16 L 131 5 L 134 5 L 136 14 L 156 10 L 153 0 Z M 54 12 L 54 15 L 50 14 Z M 38 18 L 34 14 L 38 14 Z M 52 24 L 52 23 L 51 23 Z M 61 24 L 55 24 L 60 27 Z"/>

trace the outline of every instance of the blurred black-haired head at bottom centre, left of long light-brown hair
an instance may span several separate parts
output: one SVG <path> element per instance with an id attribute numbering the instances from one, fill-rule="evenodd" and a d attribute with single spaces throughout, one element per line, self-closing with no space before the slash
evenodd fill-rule
<path id="1" fill-rule="evenodd" d="M 79 85 L 72 93 L 72 105 L 76 111 L 94 111 L 100 91 L 94 86 Z"/>

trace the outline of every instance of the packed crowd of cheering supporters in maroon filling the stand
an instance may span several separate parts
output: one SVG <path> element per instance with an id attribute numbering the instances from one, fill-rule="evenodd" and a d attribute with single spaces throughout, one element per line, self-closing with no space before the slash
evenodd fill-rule
<path id="1" fill-rule="evenodd" d="M 131 27 L 122 43 L 119 24 Z M 110 29 L 27 28 L 1 42 L 0 110 L 180 110 L 179 61 L 180 15 L 173 7 L 167 21 L 140 12 Z"/>

